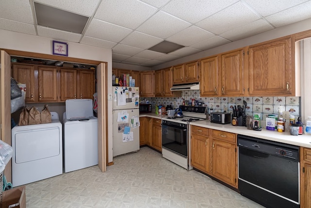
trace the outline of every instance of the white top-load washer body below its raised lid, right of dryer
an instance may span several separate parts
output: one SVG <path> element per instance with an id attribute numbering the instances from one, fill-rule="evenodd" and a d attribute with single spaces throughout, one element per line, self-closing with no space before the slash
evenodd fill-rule
<path id="1" fill-rule="evenodd" d="M 65 112 L 63 123 L 65 173 L 98 165 L 97 118 L 69 121 Z"/>

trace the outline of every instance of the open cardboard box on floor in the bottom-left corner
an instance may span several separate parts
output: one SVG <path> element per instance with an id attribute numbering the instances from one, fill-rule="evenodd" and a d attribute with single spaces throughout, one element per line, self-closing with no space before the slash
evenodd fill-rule
<path id="1" fill-rule="evenodd" d="M 25 186 L 2 192 L 1 208 L 26 208 Z"/>

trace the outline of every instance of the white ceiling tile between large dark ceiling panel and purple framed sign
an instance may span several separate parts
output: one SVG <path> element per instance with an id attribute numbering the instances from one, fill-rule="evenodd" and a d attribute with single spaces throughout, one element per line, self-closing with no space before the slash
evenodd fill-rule
<path id="1" fill-rule="evenodd" d="M 71 42 L 79 42 L 81 34 L 69 33 L 66 31 L 55 30 L 52 28 L 37 26 L 38 35 L 49 37 L 57 40 L 65 40 Z"/>

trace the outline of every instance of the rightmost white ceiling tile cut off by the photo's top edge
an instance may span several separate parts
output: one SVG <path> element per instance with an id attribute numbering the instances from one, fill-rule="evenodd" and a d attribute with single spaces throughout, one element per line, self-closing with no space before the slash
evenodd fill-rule
<path id="1" fill-rule="evenodd" d="M 244 0 L 261 16 L 267 17 L 283 11 L 307 0 Z M 299 11 L 298 11 L 299 12 Z"/>

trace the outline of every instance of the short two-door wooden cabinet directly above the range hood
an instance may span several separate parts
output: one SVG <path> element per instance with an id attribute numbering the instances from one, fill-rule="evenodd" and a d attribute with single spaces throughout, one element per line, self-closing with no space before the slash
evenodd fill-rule
<path id="1" fill-rule="evenodd" d="M 198 61 L 173 67 L 173 84 L 183 84 L 199 81 Z"/>

